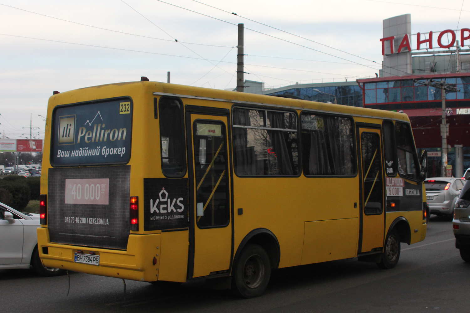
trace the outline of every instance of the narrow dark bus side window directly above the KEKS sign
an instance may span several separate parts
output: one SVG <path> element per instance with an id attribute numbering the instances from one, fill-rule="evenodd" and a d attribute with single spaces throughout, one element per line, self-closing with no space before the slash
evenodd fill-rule
<path id="1" fill-rule="evenodd" d="M 162 97 L 158 109 L 163 174 L 182 177 L 186 174 L 183 104 L 179 99 Z"/>

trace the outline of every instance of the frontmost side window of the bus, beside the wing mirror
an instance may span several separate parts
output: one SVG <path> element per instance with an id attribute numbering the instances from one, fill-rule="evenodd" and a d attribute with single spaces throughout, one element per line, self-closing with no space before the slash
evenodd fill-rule
<path id="1" fill-rule="evenodd" d="M 398 174 L 417 179 L 418 168 L 415 167 L 415 164 L 418 164 L 418 157 L 409 125 L 395 122 L 395 138 L 397 141 Z"/>

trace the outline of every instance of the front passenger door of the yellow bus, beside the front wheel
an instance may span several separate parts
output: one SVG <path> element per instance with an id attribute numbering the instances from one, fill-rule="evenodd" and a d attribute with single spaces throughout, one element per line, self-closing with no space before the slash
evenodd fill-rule
<path id="1" fill-rule="evenodd" d="M 382 251 L 385 210 L 380 129 L 360 128 L 360 235 L 358 253 Z"/>

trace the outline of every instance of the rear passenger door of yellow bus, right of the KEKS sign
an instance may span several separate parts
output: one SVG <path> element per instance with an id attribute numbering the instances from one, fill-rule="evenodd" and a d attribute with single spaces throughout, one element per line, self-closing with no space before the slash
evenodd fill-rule
<path id="1" fill-rule="evenodd" d="M 187 113 L 188 278 L 228 274 L 232 252 L 227 115 Z M 192 165 L 192 166 L 191 166 Z"/>

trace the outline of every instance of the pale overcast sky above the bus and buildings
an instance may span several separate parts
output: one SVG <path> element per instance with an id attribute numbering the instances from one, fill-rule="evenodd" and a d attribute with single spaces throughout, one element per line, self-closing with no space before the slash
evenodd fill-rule
<path id="1" fill-rule="evenodd" d="M 165 2 L 0 0 L 0 133 L 29 137 L 32 115 L 43 138 L 38 115 L 46 116 L 55 90 L 141 76 L 166 82 L 167 71 L 175 84 L 235 87 L 237 23 L 251 29 L 245 29 L 245 79 L 264 81 L 266 88 L 375 76 L 385 18 L 410 13 L 413 33 L 456 29 L 457 23 L 470 28 L 469 0 L 463 7 L 461 0 L 200 1 L 238 15 L 194 0 Z"/>

